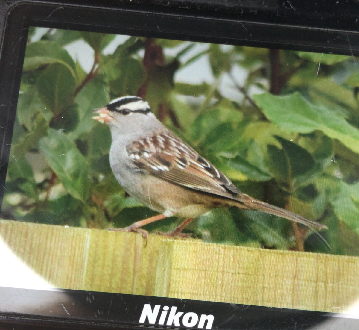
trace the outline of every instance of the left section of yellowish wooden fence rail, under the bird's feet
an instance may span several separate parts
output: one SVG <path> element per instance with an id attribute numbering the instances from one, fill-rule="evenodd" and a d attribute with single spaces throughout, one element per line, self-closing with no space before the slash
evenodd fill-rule
<path id="1" fill-rule="evenodd" d="M 0 237 L 53 287 L 151 295 L 160 236 L 0 220 Z M 154 274 L 154 275 L 153 275 Z"/>

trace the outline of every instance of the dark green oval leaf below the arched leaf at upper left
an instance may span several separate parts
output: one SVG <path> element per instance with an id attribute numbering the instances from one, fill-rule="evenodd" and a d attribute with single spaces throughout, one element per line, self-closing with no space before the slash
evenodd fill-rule
<path id="1" fill-rule="evenodd" d="M 39 97 L 54 114 L 59 114 L 71 104 L 76 81 L 71 71 L 62 64 L 51 64 L 39 76 L 36 87 Z"/>

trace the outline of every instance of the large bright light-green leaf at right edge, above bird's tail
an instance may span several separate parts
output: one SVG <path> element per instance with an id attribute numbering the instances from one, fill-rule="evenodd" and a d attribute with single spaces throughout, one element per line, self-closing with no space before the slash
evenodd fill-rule
<path id="1" fill-rule="evenodd" d="M 264 93 L 253 98 L 266 117 L 279 128 L 299 133 L 321 130 L 359 153 L 359 130 L 332 111 L 310 104 L 299 93 L 286 96 Z"/>

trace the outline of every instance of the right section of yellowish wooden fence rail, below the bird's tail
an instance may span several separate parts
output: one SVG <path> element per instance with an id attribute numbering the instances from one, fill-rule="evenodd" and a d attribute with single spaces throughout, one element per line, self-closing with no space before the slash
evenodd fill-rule
<path id="1" fill-rule="evenodd" d="M 160 244 L 159 267 L 165 271 L 158 268 L 155 295 L 327 312 L 343 311 L 359 297 L 358 257 Z"/>

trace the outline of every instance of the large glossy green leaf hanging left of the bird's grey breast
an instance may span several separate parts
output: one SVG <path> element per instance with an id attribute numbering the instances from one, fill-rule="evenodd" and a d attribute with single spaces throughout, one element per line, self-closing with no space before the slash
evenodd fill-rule
<path id="1" fill-rule="evenodd" d="M 88 163 L 75 143 L 61 131 L 50 129 L 49 135 L 40 140 L 39 147 L 65 189 L 85 202 L 90 192 Z"/>

